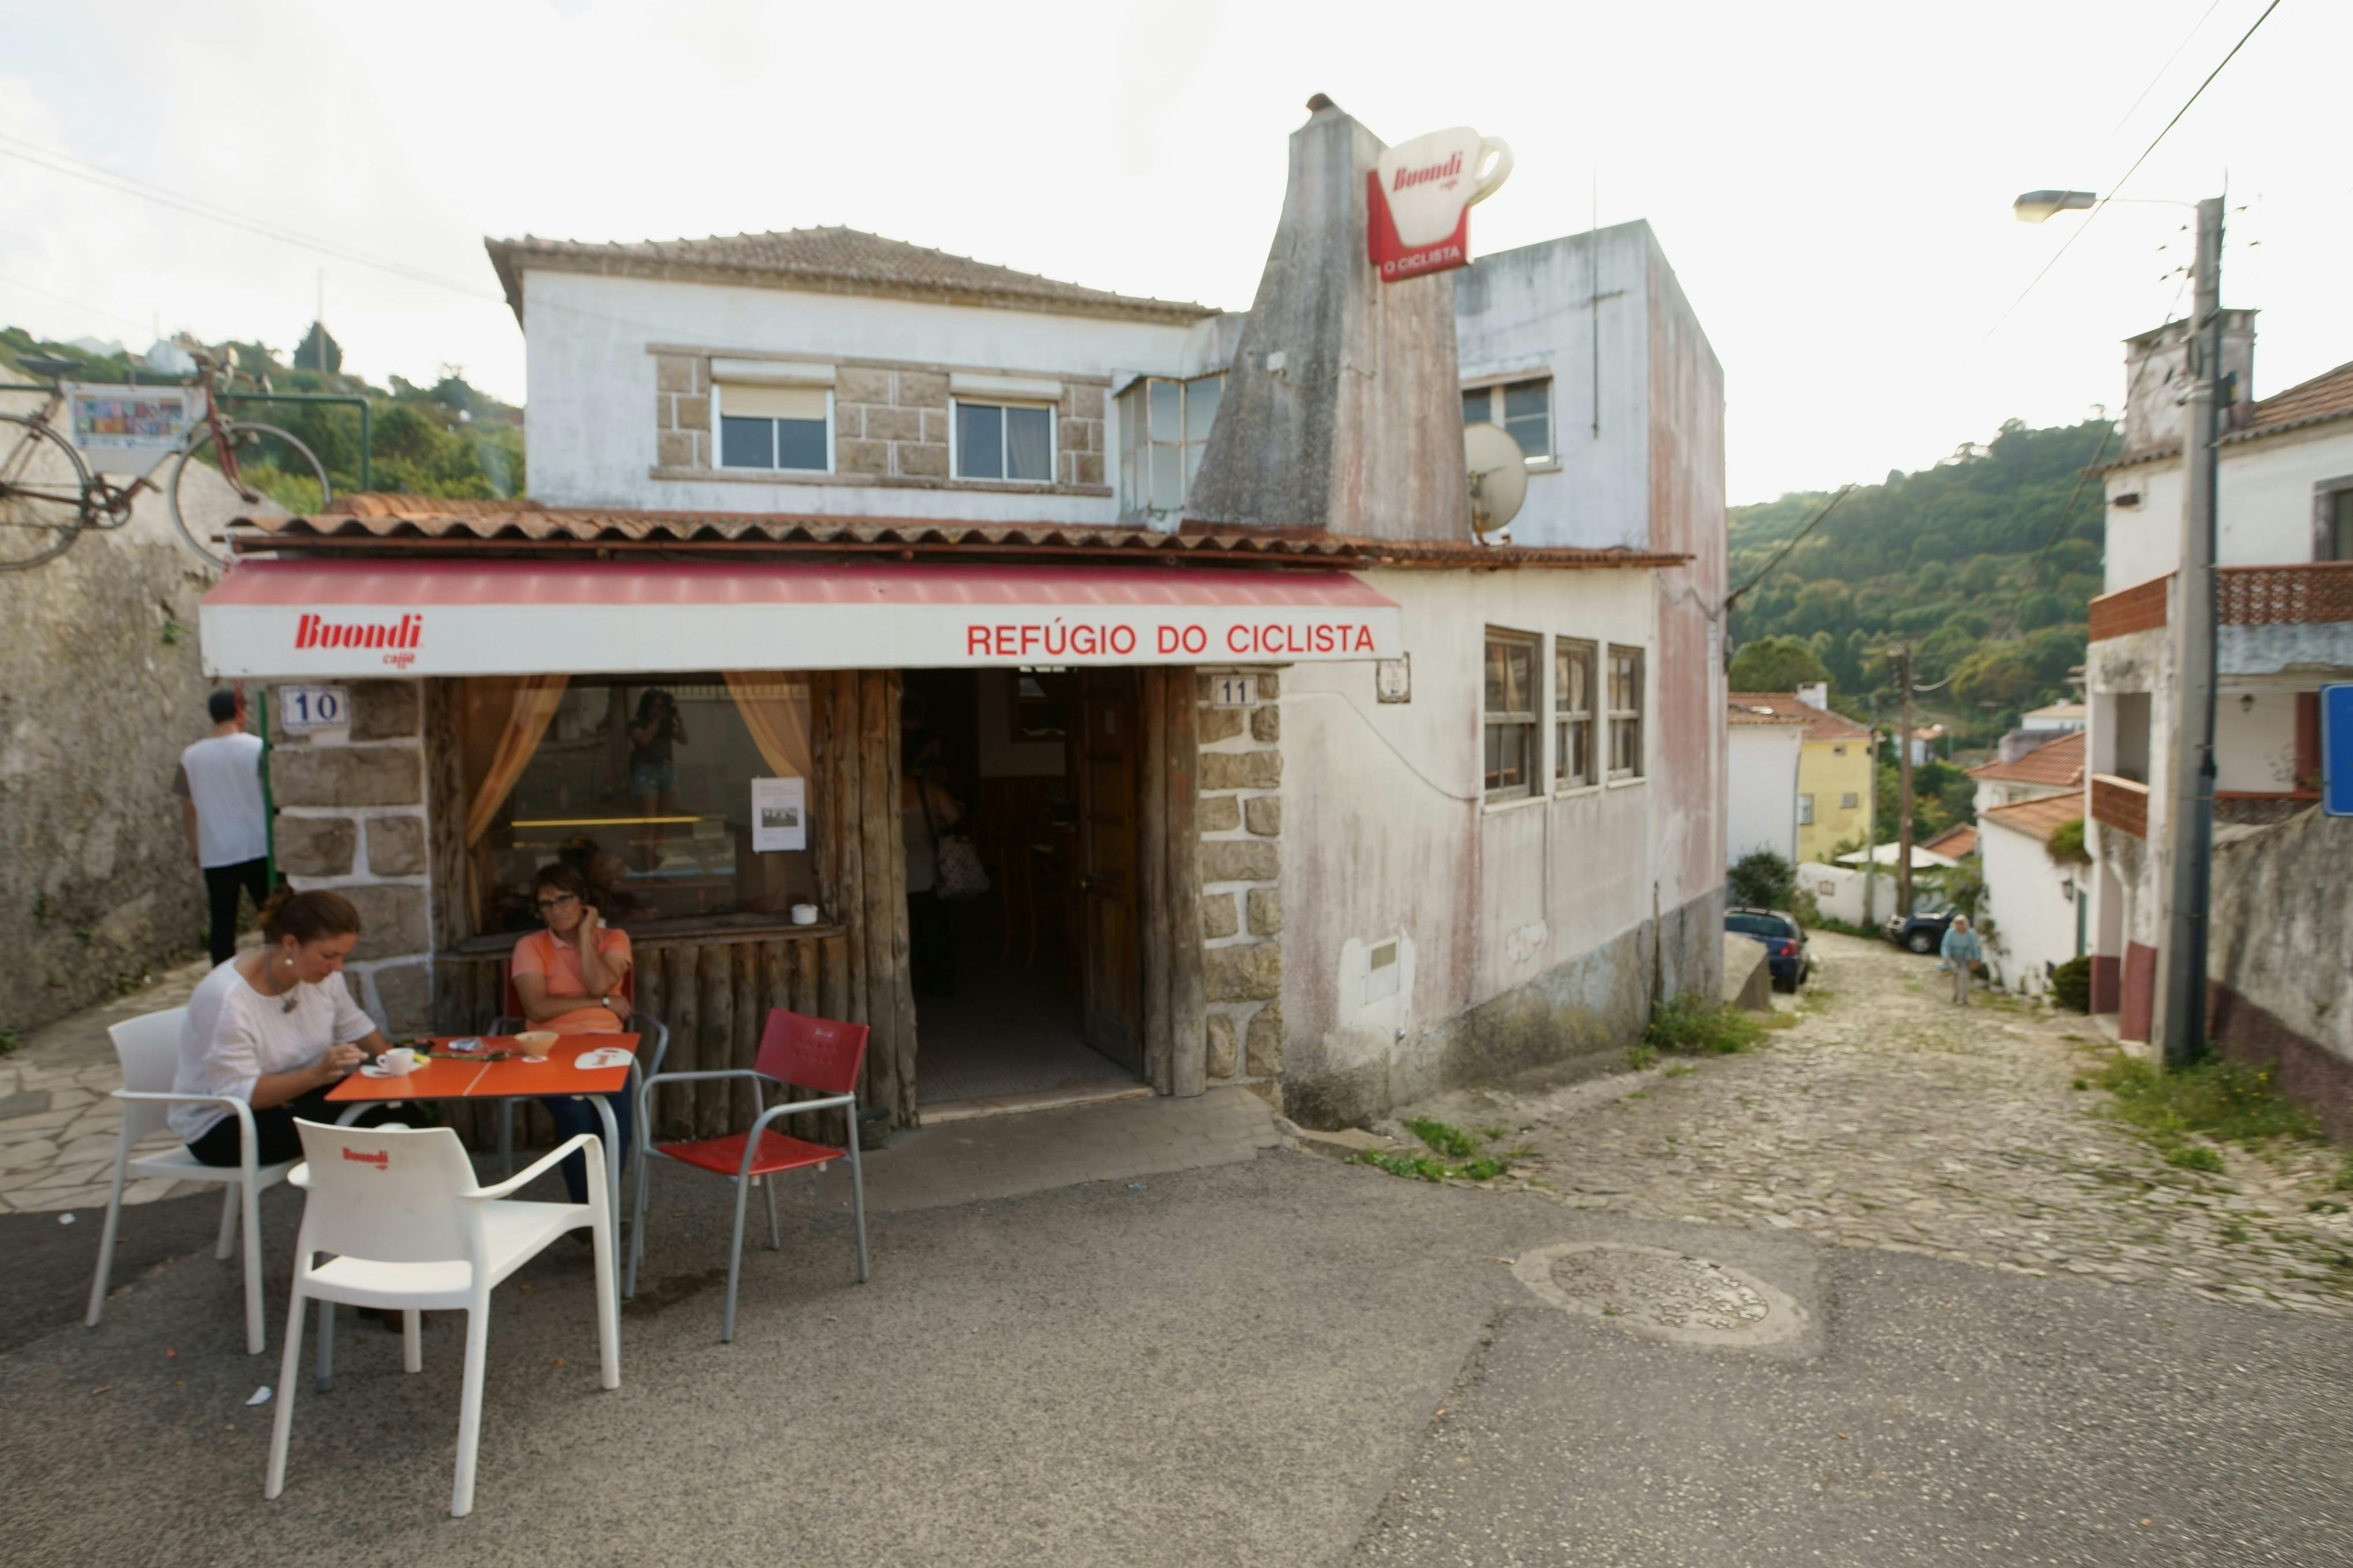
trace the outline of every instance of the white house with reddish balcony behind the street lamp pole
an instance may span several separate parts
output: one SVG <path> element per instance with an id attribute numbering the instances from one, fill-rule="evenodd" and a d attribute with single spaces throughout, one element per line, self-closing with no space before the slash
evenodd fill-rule
<path id="1" fill-rule="evenodd" d="M 2252 386 L 2254 313 L 2224 322 L 2224 371 Z M 2127 343 L 2122 456 L 2108 491 L 2108 592 L 2092 602 L 2089 811 L 2092 992 L 2125 1039 L 2151 1039 L 2165 945 L 2167 780 L 2184 743 L 2177 712 L 2172 599 L 2186 508 L 2184 400 L 2188 327 Z M 2318 689 L 2353 679 L 2353 364 L 2226 409 L 2217 489 L 2217 903 L 2228 889 L 2233 827 L 2306 813 L 2320 771 Z M 2341 823 L 2329 823 L 2329 832 Z M 2339 867 L 2344 860 L 2339 860 Z M 2339 877 L 2325 865 L 2308 875 Z M 2341 898 L 2339 898 L 2341 903 Z M 2228 940 L 2226 940 L 2228 938 Z M 2212 940 L 2214 1037 L 2259 1046 L 2353 1105 L 2353 961 L 2304 961 L 2247 994 L 2245 933 Z M 2285 933 L 2282 933 L 2285 940 Z M 2254 1020 L 2235 1027 L 2231 1018 Z"/>

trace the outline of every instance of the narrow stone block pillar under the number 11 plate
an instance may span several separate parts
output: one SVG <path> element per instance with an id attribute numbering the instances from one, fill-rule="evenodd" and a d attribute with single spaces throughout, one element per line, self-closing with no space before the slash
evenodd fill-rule
<path id="1" fill-rule="evenodd" d="M 1252 670 L 1257 703 L 1212 708 L 1200 675 L 1200 907 L 1209 1081 L 1280 1098 L 1282 677 Z"/>

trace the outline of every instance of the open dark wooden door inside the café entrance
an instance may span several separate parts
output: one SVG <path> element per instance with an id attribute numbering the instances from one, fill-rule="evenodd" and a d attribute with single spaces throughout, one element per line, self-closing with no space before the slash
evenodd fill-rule
<path id="1" fill-rule="evenodd" d="M 1144 1072 L 1136 950 L 1139 731 L 1134 670 L 1085 670 L 1078 686 L 1078 971 L 1087 1044 Z"/>

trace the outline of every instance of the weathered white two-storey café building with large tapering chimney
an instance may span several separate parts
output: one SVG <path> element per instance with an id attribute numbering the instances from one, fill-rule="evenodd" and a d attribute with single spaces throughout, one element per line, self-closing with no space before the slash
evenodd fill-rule
<path id="1" fill-rule="evenodd" d="M 1600 1060 L 1659 997 L 1713 997 L 1722 371 L 1642 223 L 1381 282 L 1379 153 L 1318 101 L 1247 313 L 838 228 L 494 242 L 534 501 L 256 522 L 280 559 L 207 611 L 216 668 L 292 677 L 351 658 L 280 625 L 327 576 L 475 595 L 433 597 L 447 630 L 400 665 L 428 790 L 367 806 L 421 816 L 431 865 L 379 877 L 306 827 L 322 853 L 292 867 L 414 912 L 381 943 L 398 922 L 369 917 L 372 994 L 468 1023 L 520 882 L 581 835 L 647 903 L 666 994 L 713 943 L 786 969 L 814 947 L 814 994 L 873 1023 L 873 1098 L 904 1121 L 1141 1079 L 1341 1124 Z M 1471 538 L 1466 418 L 1527 456 L 1511 545 Z M 306 564 L 332 550 L 367 559 Z M 555 611 L 501 595 L 605 609 L 518 637 Z M 532 682 L 567 693 L 553 722 Z M 694 703 L 675 757 L 621 738 L 656 689 Z M 452 717 L 508 712 L 504 750 Z M 981 903 L 906 898 L 901 835 L 920 851 L 929 825 L 901 722 L 969 809 Z M 753 776 L 807 853 L 755 849 Z M 287 809 L 348 820 L 339 788 Z M 953 997 L 918 990 L 925 919 L 969 947 Z M 828 943 L 861 954 L 840 980 Z M 748 1006 L 704 1006 L 673 1048 L 732 1063 Z"/>

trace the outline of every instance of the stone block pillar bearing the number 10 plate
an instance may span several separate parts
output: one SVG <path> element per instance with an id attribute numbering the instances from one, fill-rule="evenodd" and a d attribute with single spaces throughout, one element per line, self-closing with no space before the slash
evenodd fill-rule
<path id="1" fill-rule="evenodd" d="M 426 877 L 421 682 L 353 682 L 348 736 L 289 736 L 271 722 L 278 870 L 360 910 L 344 976 L 388 1034 L 431 1027 L 433 919 Z"/>

